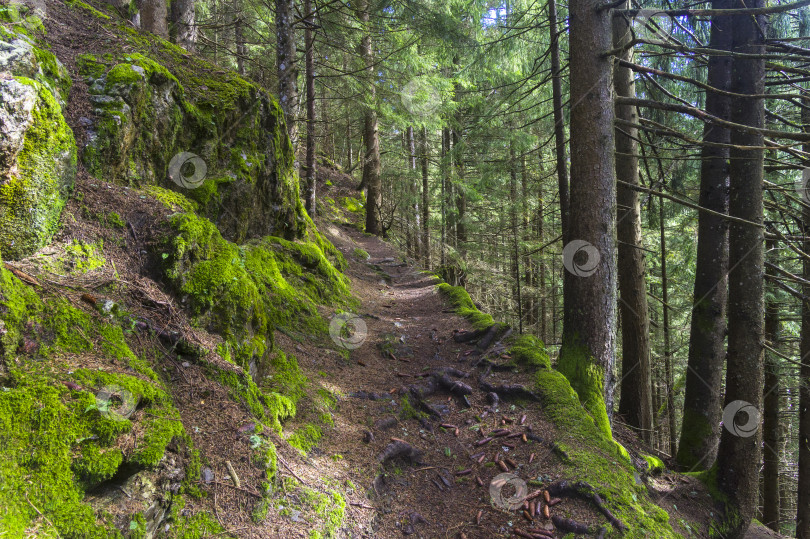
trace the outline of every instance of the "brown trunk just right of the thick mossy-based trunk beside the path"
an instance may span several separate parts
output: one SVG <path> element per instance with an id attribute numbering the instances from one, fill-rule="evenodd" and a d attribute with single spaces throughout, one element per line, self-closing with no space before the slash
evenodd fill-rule
<path id="1" fill-rule="evenodd" d="M 625 8 L 629 7 L 629 1 Z M 613 18 L 613 46 L 621 47 L 632 39 L 630 24 L 624 17 Z M 627 47 L 624 60 L 633 61 L 633 48 Z M 636 85 L 630 68 L 617 66 L 613 72 L 617 96 L 635 97 Z M 636 107 L 616 106 L 616 117 L 638 123 Z M 616 129 L 616 177 L 631 185 L 639 184 L 638 130 L 622 126 Z M 619 313 L 622 327 L 622 379 L 619 413 L 647 443 L 652 434 L 650 397 L 650 325 L 647 306 L 644 251 L 641 247 L 641 204 L 638 192 L 617 186 L 617 239 L 619 254 Z M 666 306 L 664 307 L 666 309 Z"/>

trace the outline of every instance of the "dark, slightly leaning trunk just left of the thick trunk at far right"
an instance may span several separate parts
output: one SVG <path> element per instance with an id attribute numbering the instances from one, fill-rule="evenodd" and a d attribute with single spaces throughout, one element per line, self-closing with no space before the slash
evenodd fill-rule
<path id="1" fill-rule="evenodd" d="M 714 0 L 715 9 L 735 7 L 732 0 Z M 709 47 L 731 50 L 732 17 L 714 17 Z M 731 84 L 731 57 L 709 56 L 708 84 L 727 91 Z M 706 93 L 706 111 L 730 118 L 728 96 Z M 727 129 L 706 124 L 703 140 L 728 144 Z M 700 206 L 728 213 L 727 148 L 703 146 L 700 166 Z M 698 214 L 694 306 L 689 336 L 683 422 L 677 462 L 684 469 L 705 470 L 714 464 L 719 441 L 723 362 L 725 360 L 726 302 L 728 299 L 728 222 L 706 212 Z"/>

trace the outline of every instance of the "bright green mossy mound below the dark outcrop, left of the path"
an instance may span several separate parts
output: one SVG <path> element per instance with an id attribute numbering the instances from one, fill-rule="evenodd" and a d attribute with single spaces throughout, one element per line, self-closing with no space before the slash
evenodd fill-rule
<path id="1" fill-rule="evenodd" d="M 316 306 L 351 303 L 324 249 L 345 260 L 317 233 L 317 241 L 267 236 L 239 246 L 193 213 L 175 214 L 170 227 L 159 253 L 169 282 L 195 322 L 222 334 L 234 362 L 257 380 L 270 372 L 275 330 L 325 336 Z"/>

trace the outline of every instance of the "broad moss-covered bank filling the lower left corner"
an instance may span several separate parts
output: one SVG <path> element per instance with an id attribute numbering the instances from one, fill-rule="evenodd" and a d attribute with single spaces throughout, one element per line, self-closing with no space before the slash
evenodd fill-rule
<path id="1" fill-rule="evenodd" d="M 63 298 L 40 298 L 2 268 L 0 320 L 7 367 L 0 379 L 0 532 L 23 536 L 36 521 L 48 535 L 116 536 L 115 523 L 94 511 L 87 492 L 121 470 L 161 467 L 171 443 L 187 440 L 178 411 L 114 321 Z M 62 367 L 67 356 L 94 352 L 98 345 L 89 337 L 103 342 L 97 353 L 129 361 L 133 372 Z M 125 455 L 119 439 L 136 423 L 136 445 Z M 175 473 L 182 472 L 177 466 Z M 162 519 L 143 509 L 146 524 Z"/>

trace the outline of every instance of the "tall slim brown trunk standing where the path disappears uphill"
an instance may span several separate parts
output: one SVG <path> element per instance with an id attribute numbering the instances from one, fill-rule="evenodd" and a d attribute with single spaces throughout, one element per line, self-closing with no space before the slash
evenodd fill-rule
<path id="1" fill-rule="evenodd" d="M 376 84 L 374 83 L 374 47 L 371 42 L 371 13 L 368 0 L 357 0 L 357 15 L 363 28 L 360 53 L 365 66 L 367 105 L 363 117 L 363 139 L 366 153 L 363 160 L 363 180 L 367 189 L 366 232 L 380 235 L 382 211 L 382 178 L 380 165 L 380 133 L 377 127 Z"/>

